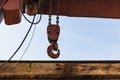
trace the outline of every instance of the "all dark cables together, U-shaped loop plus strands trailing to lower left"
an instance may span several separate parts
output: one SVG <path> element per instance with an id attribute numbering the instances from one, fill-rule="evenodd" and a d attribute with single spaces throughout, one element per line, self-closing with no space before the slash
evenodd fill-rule
<path id="1" fill-rule="evenodd" d="M 20 0 L 19 0 L 19 4 L 20 4 Z M 17 54 L 17 52 L 21 49 L 22 45 L 24 44 L 26 38 L 28 37 L 28 35 L 29 35 L 29 33 L 30 33 L 33 25 L 35 25 L 34 30 L 33 30 L 33 33 L 32 33 L 32 36 L 31 36 L 31 39 L 30 39 L 30 41 L 29 41 L 29 43 L 28 43 L 25 51 L 23 52 L 22 56 L 20 57 L 20 59 L 22 59 L 22 57 L 23 57 L 24 54 L 26 53 L 26 51 L 27 51 L 28 47 L 30 46 L 30 43 L 31 43 L 31 41 L 32 41 L 32 39 L 33 39 L 34 32 L 35 32 L 35 29 L 36 29 L 36 25 L 37 25 L 38 23 L 40 23 L 41 18 L 42 18 L 43 0 L 41 1 L 40 4 L 41 4 L 41 6 L 40 6 L 41 14 L 40 14 L 40 17 L 39 17 L 39 19 L 38 19 L 37 22 L 35 22 L 35 18 L 36 18 L 37 13 L 34 15 L 33 20 L 30 21 L 30 20 L 27 19 L 27 17 L 26 17 L 26 16 L 24 15 L 24 13 L 22 12 L 22 8 L 21 8 L 21 6 L 20 6 L 20 10 L 21 10 L 21 12 L 22 12 L 23 17 L 24 17 L 31 25 L 30 25 L 30 27 L 29 27 L 29 29 L 28 29 L 25 37 L 23 38 L 22 42 L 20 43 L 19 47 L 15 50 L 15 52 L 11 55 L 11 57 L 10 57 L 7 61 L 5 61 L 3 64 L 0 65 L 0 68 L 3 67 L 3 66 L 5 66 L 8 62 L 10 62 L 10 61 L 12 60 L 12 58 Z M 20 61 L 20 59 L 17 61 L 17 63 Z M 17 63 L 16 63 L 16 64 L 17 64 Z M 11 67 L 12 67 L 12 66 L 11 66 Z M 7 69 L 7 70 L 9 70 L 9 69 Z"/>

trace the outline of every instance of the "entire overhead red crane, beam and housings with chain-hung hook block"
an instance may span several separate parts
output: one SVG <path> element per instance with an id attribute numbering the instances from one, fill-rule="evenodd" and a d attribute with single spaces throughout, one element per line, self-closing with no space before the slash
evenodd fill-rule
<path id="1" fill-rule="evenodd" d="M 43 2 L 42 2 L 43 1 Z M 120 18 L 120 0 L 0 0 L 0 22 L 13 25 L 21 22 L 24 13 L 29 16 L 47 14 L 47 36 L 50 45 L 47 52 L 51 58 L 58 58 L 60 50 L 57 40 L 60 34 L 59 16 Z M 56 23 L 51 23 L 52 15 L 57 15 Z M 29 21 L 31 24 L 38 22 Z"/>

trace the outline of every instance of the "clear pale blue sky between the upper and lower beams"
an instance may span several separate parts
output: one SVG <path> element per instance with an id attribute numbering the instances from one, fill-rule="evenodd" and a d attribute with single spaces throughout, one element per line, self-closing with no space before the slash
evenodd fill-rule
<path id="1" fill-rule="evenodd" d="M 31 17 L 29 17 L 32 20 Z M 55 17 L 53 17 L 53 23 Z M 47 55 L 46 28 L 48 16 L 43 15 L 33 40 L 22 60 L 120 60 L 120 19 L 60 17 L 61 33 L 58 40 L 60 57 Z M 0 24 L 0 60 L 7 60 L 17 49 L 30 24 L 22 18 L 20 24 Z M 34 27 L 34 26 L 33 26 Z M 33 31 L 33 28 L 32 28 Z M 31 34 L 13 60 L 23 54 Z"/>

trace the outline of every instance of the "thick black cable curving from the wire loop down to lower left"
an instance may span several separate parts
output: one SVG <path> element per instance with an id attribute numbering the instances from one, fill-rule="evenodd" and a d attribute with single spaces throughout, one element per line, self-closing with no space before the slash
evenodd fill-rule
<path id="1" fill-rule="evenodd" d="M 35 17 L 36 17 L 36 14 L 35 14 L 34 17 L 33 17 L 33 21 L 32 21 L 32 22 L 34 22 Z M 19 51 L 19 49 L 22 47 L 23 43 L 25 42 L 28 34 L 30 33 L 30 31 L 31 31 L 31 29 L 32 29 L 32 26 L 33 26 L 33 24 L 31 23 L 30 28 L 29 28 L 28 32 L 26 33 L 24 39 L 22 40 L 21 44 L 19 45 L 19 47 L 16 49 L 16 51 L 13 53 L 13 55 L 12 55 L 6 62 L 4 62 L 3 64 L 0 65 L 0 67 L 2 67 L 2 66 L 4 66 L 5 64 L 7 64 L 7 63 L 16 55 L 16 53 Z"/>

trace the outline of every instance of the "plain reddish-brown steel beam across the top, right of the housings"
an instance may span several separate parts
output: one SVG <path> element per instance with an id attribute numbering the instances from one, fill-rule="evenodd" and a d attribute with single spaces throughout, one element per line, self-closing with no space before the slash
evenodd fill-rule
<path id="1" fill-rule="evenodd" d="M 52 0 L 56 14 L 56 0 Z M 60 0 L 60 15 L 72 17 L 120 18 L 120 0 Z M 49 12 L 49 0 L 44 0 L 43 13 Z"/>

